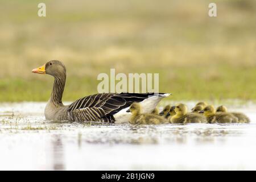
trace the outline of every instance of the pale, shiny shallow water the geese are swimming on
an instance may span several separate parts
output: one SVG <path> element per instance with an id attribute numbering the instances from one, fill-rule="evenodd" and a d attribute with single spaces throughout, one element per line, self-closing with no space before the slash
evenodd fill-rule
<path id="1" fill-rule="evenodd" d="M 253 104 L 231 108 L 250 124 L 158 126 L 56 123 L 45 105 L 0 104 L 0 169 L 256 169 Z"/>

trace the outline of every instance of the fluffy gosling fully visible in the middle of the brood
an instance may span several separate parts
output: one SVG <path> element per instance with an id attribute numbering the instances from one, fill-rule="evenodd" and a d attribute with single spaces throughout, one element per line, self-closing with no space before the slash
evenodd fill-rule
<path id="1" fill-rule="evenodd" d="M 187 113 L 187 106 L 184 104 L 179 104 L 175 106 L 175 115 L 171 117 L 171 123 L 206 123 L 207 119 L 196 113 Z"/>

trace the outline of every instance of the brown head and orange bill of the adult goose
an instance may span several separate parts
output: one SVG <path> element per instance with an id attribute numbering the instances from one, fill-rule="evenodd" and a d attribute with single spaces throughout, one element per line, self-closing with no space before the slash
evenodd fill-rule
<path id="1" fill-rule="evenodd" d="M 42 67 L 32 69 L 33 73 L 48 74 L 53 77 L 63 77 L 66 75 L 66 67 L 58 60 L 52 60 L 42 65 Z"/>

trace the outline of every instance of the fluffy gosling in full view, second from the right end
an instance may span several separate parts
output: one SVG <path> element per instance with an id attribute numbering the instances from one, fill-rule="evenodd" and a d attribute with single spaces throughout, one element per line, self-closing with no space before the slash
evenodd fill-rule
<path id="1" fill-rule="evenodd" d="M 238 119 L 230 113 L 216 113 L 214 107 L 209 105 L 201 110 L 204 113 L 208 123 L 237 123 Z"/>

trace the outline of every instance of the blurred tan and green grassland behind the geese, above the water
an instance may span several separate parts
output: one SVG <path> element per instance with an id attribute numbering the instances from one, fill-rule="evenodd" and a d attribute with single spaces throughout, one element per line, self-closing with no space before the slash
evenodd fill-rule
<path id="1" fill-rule="evenodd" d="M 46 3 L 46 17 L 38 4 Z M 256 1 L 1 1 L 0 101 L 47 101 L 49 60 L 68 70 L 65 101 L 97 92 L 97 75 L 159 73 L 171 100 L 256 99 Z"/>

